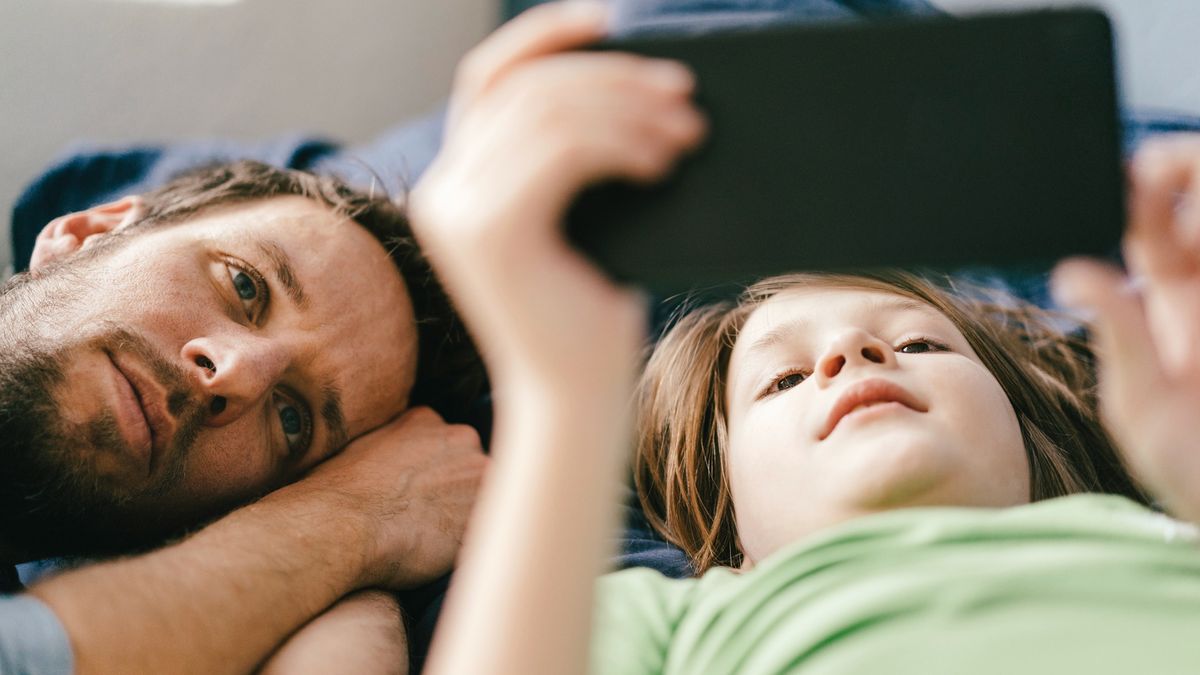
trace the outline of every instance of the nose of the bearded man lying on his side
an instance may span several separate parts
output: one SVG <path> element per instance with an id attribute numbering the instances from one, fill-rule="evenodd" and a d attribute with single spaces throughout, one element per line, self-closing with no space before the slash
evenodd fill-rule
<path id="1" fill-rule="evenodd" d="M 197 338 L 184 345 L 182 357 L 208 399 L 211 426 L 229 424 L 260 404 L 290 363 L 283 345 L 256 335 Z"/>

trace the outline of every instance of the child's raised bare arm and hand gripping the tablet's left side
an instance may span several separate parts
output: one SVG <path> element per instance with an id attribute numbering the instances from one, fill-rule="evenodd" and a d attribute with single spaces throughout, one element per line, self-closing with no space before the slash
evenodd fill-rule
<path id="1" fill-rule="evenodd" d="M 644 318 L 568 246 L 560 221 L 586 184 L 654 180 L 704 129 L 683 67 L 562 53 L 604 26 L 600 5 L 547 5 L 469 54 L 443 153 L 412 197 L 421 245 L 487 363 L 497 414 L 431 674 L 586 667 Z"/>

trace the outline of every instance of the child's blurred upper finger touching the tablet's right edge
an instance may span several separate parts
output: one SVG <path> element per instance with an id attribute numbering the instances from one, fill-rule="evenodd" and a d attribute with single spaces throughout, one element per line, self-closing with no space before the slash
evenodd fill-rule
<path id="1" fill-rule="evenodd" d="M 1192 274 L 1198 263 L 1195 233 L 1180 227 L 1180 197 L 1193 186 L 1200 141 L 1180 137 L 1147 143 L 1134 159 L 1129 196 L 1127 257 L 1139 275 Z"/>

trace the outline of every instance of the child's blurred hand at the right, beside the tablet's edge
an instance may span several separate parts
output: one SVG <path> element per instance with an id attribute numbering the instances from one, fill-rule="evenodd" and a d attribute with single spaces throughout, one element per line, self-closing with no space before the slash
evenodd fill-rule
<path id="1" fill-rule="evenodd" d="M 1130 467 L 1200 521 L 1200 137 L 1148 144 L 1132 173 L 1130 277 L 1070 261 L 1055 294 L 1096 315 L 1100 407 Z"/>

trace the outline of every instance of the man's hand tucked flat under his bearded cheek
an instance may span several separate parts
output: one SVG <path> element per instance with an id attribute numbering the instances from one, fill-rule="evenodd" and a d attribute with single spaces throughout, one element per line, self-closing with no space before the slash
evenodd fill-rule
<path id="1" fill-rule="evenodd" d="M 359 437 L 295 488 L 364 519 L 372 545 L 362 585 L 407 589 L 450 571 L 486 467 L 479 435 L 413 408 Z"/>

